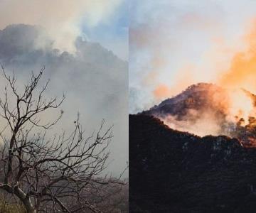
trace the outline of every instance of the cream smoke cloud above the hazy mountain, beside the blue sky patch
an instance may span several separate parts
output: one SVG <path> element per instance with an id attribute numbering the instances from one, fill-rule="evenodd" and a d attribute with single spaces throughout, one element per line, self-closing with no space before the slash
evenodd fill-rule
<path id="1" fill-rule="evenodd" d="M 75 51 L 75 40 L 82 35 L 81 24 L 93 27 L 108 21 L 122 0 L 2 0 L 0 1 L 0 29 L 9 24 L 24 23 L 42 26 L 54 41 L 54 48 L 70 53 Z M 41 35 L 37 45 L 44 45 Z"/>

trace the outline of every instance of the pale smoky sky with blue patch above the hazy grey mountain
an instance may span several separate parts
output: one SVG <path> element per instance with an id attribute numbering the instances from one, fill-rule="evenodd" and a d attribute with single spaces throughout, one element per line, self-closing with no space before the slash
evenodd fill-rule
<path id="1" fill-rule="evenodd" d="M 40 25 L 54 47 L 75 51 L 75 39 L 97 41 L 127 60 L 128 6 L 124 0 L 2 0 L 0 28 L 11 23 Z"/>

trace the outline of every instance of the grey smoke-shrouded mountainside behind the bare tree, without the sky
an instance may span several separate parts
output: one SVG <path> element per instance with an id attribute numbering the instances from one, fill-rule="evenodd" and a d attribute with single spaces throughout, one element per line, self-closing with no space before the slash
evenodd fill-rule
<path id="1" fill-rule="evenodd" d="M 38 73 L 43 65 L 46 71 L 42 82 L 50 79 L 46 97 L 66 96 L 61 106 L 63 119 L 56 126 L 58 130 L 71 130 L 80 112 L 80 121 L 85 136 L 97 131 L 102 119 L 106 126 L 114 125 L 113 141 L 110 143 L 109 170 L 119 174 L 128 159 L 128 65 L 111 51 L 98 43 L 91 43 L 78 37 L 73 55 L 53 48 L 53 40 L 44 40 L 47 48 L 38 48 L 38 38 L 46 29 L 24 24 L 7 26 L 0 31 L 0 62 L 6 72 L 16 72 L 18 91 L 28 82 L 33 72 Z M 0 77 L 1 90 L 5 82 Z M 41 87 L 42 85 L 39 85 Z M 52 120 L 58 111 L 51 111 L 43 121 Z"/>

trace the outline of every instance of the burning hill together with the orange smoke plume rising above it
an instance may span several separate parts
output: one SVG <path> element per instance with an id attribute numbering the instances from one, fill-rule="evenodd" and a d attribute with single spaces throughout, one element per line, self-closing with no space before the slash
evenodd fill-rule
<path id="1" fill-rule="evenodd" d="M 190 81 L 183 84 L 182 79 L 176 78 L 174 82 L 177 83 L 172 82 L 171 86 L 158 84 L 153 90 L 156 100 L 170 99 L 181 92 L 181 89 L 186 89 L 191 84 L 195 86 L 191 93 L 183 90 L 185 92 L 175 102 L 171 102 L 170 109 L 160 107 L 156 116 L 174 129 L 199 136 L 231 136 L 238 138 L 245 146 L 253 144 L 256 147 L 256 18 L 252 21 L 250 31 L 242 39 L 245 46 L 231 53 L 227 67 L 223 69 L 217 66 L 216 73 L 220 75 L 216 79 L 210 77 L 202 80 L 200 77 L 200 80 L 194 80 L 193 76 L 197 72 L 190 67 L 187 69 L 189 75 L 186 75 Z M 178 75 L 185 76 L 184 72 L 178 72 Z M 207 83 L 198 86 L 198 82 Z M 217 84 L 220 89 L 211 87 L 209 82 L 215 86 Z"/>

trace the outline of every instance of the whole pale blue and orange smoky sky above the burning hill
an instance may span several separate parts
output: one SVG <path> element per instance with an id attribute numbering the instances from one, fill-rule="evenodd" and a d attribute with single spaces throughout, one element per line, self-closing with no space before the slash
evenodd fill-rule
<path id="1" fill-rule="evenodd" d="M 256 92 L 256 1 L 132 0 L 129 10 L 130 113 L 197 82 Z"/>

